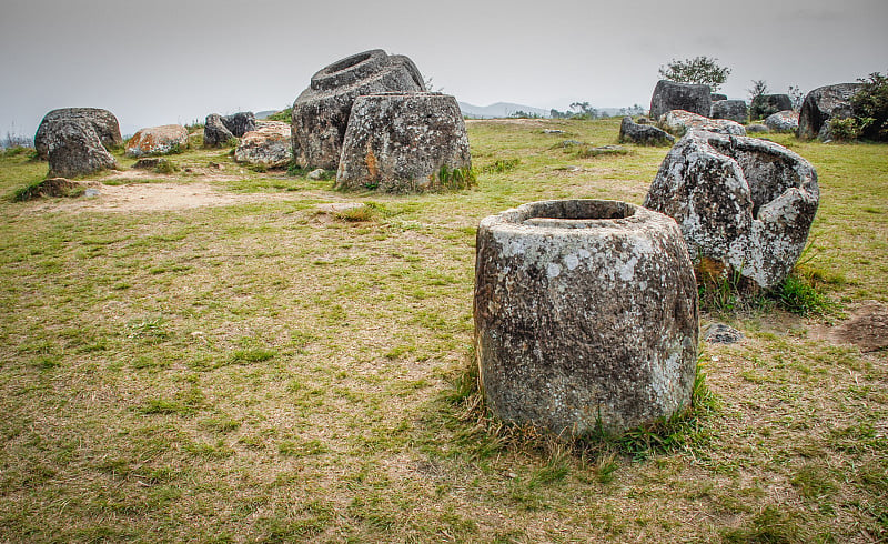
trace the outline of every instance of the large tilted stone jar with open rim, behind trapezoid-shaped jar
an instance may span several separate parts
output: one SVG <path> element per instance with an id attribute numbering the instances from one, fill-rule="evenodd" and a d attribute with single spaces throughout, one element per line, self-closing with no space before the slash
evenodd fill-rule
<path id="1" fill-rule="evenodd" d="M 335 170 L 357 97 L 380 92 L 422 92 L 416 66 L 381 49 L 336 61 L 312 75 L 293 103 L 293 157 L 304 168 Z"/>

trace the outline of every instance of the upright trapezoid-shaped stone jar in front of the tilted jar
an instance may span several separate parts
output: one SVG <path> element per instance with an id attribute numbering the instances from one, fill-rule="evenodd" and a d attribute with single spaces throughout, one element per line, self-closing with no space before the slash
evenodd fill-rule
<path id="1" fill-rule="evenodd" d="M 471 168 L 455 98 L 436 92 L 370 94 L 354 101 L 336 188 L 437 190 L 448 183 L 443 169 L 462 174 Z"/>

